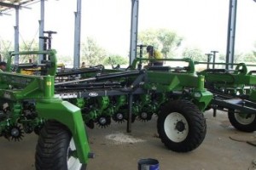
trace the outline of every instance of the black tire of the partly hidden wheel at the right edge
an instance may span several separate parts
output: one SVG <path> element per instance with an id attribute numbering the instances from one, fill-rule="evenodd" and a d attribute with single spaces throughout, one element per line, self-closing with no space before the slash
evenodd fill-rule
<path id="1" fill-rule="evenodd" d="M 228 117 L 233 127 L 242 132 L 252 133 L 256 130 L 256 116 L 255 114 L 247 114 L 247 116 L 251 120 L 243 118 L 239 113 L 235 113 L 234 110 L 228 112 Z"/>

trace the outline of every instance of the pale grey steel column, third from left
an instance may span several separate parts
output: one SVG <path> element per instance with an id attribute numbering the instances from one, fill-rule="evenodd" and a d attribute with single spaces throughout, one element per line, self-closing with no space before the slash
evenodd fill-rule
<path id="1" fill-rule="evenodd" d="M 79 68 L 80 65 L 80 37 L 81 37 L 81 0 L 77 0 L 77 12 L 75 14 L 74 26 L 74 53 L 73 68 Z"/>

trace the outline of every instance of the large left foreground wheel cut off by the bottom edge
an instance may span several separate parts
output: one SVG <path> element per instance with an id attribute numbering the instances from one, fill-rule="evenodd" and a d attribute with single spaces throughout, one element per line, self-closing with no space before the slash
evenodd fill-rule
<path id="1" fill-rule="evenodd" d="M 71 156 L 76 150 L 72 133 L 59 122 L 46 122 L 40 131 L 36 150 L 37 170 L 85 170 L 79 158 Z"/>

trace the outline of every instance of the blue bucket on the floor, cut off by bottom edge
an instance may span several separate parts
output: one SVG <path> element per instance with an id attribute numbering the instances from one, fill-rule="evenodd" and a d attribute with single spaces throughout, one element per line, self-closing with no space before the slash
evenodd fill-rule
<path id="1" fill-rule="evenodd" d="M 160 170 L 159 161 L 155 159 L 141 159 L 137 162 L 138 170 Z"/>

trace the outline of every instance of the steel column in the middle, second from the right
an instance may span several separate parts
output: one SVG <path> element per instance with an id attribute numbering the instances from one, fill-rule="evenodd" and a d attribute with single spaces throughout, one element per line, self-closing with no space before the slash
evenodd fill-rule
<path id="1" fill-rule="evenodd" d="M 130 39 L 130 65 L 137 56 L 137 23 L 138 23 L 138 0 L 131 0 L 131 39 Z"/>

